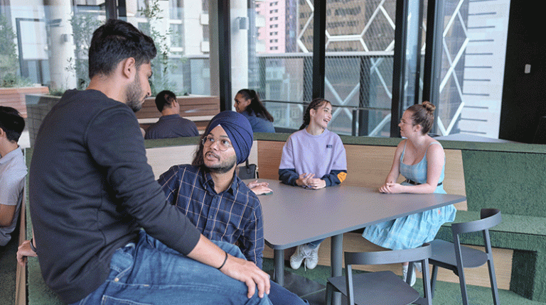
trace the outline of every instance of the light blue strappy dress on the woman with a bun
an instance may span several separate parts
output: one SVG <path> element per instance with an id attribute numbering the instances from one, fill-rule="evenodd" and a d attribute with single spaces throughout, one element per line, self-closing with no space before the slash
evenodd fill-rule
<path id="1" fill-rule="evenodd" d="M 438 142 L 433 142 L 430 145 L 434 144 L 441 145 Z M 420 184 L 427 182 L 427 152 L 424 153 L 424 157 L 416 165 L 406 165 L 402 162 L 405 150 L 406 145 L 404 145 L 402 156 L 400 156 L 400 174 L 406 179 Z M 444 167 L 441 168 L 439 182 L 444 181 Z M 402 182 L 402 185 L 411 184 Z M 434 193 L 446 194 L 446 191 L 444 191 L 443 185 L 439 185 Z M 455 220 L 455 214 L 456 209 L 451 204 L 375 224 L 365 228 L 362 237 L 376 245 L 392 250 L 417 248 L 423 243 L 433 240 L 442 224 Z"/>

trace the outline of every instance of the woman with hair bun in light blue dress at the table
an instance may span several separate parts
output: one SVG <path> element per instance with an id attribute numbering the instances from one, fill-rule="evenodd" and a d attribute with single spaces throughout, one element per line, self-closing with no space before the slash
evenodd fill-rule
<path id="1" fill-rule="evenodd" d="M 385 184 L 379 191 L 387 194 L 414 193 L 446 194 L 444 181 L 445 154 L 441 144 L 428 135 L 434 122 L 436 107 L 424 101 L 408 108 L 400 120 L 400 135 L 406 138 L 398 144 L 395 159 Z M 406 180 L 396 183 L 402 174 Z M 417 248 L 434 239 L 440 226 L 454 221 L 453 205 L 385 221 L 365 228 L 363 238 L 392 250 Z M 407 262 L 402 264 L 402 275 L 407 276 Z M 412 285 L 415 272 L 412 273 Z"/>

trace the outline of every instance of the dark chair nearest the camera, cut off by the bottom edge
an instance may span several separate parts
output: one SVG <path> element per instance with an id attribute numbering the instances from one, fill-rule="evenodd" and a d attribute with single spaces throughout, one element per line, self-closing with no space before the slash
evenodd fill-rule
<path id="1" fill-rule="evenodd" d="M 326 304 L 331 305 L 333 292 L 347 296 L 347 304 L 395 305 L 432 304 L 429 283 L 429 257 L 432 247 L 425 243 L 422 247 L 407 250 L 345 253 L 345 273 L 343 277 L 331 277 L 326 283 Z M 353 275 L 352 265 L 384 265 L 410 262 L 407 282 L 392 271 L 367 272 Z M 410 286 L 413 262 L 423 266 L 424 297 Z"/>

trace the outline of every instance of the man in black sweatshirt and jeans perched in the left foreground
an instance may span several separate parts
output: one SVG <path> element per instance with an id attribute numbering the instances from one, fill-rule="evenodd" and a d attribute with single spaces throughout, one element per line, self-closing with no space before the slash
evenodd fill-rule
<path id="1" fill-rule="evenodd" d="M 68 304 L 269 304 L 267 274 L 166 204 L 146 162 L 134 111 L 155 55 L 137 28 L 107 21 L 89 87 L 65 92 L 38 131 L 29 201 L 45 283 Z"/>

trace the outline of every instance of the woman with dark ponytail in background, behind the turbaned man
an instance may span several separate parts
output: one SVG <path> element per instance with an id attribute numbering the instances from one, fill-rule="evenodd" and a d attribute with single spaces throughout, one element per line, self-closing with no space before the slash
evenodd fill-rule
<path id="1" fill-rule="evenodd" d="M 274 133 L 273 116 L 265 109 L 256 91 L 240 89 L 235 94 L 235 110 L 245 116 L 255 133 Z"/>

